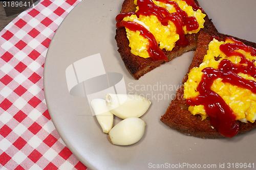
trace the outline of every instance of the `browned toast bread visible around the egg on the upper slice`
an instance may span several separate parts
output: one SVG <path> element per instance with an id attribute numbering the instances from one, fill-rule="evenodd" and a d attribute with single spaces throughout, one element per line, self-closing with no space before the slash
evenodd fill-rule
<path id="1" fill-rule="evenodd" d="M 198 4 L 196 0 L 195 2 Z M 134 5 L 134 0 L 124 0 L 121 13 L 135 12 L 135 10 L 136 10 L 136 5 Z M 208 16 L 205 17 L 204 27 L 205 28 L 201 30 L 207 30 L 209 32 L 217 32 L 217 29 L 215 28 L 211 20 L 208 18 Z M 188 39 L 188 42 L 189 42 L 187 46 L 176 45 L 172 51 L 164 50 L 164 53 L 167 56 L 168 60 L 170 61 L 175 57 L 182 55 L 185 52 L 195 50 L 197 47 L 197 37 L 198 37 L 198 34 L 187 34 L 186 38 Z M 131 48 L 129 47 L 129 40 L 126 37 L 126 31 L 124 28 L 120 28 L 116 30 L 115 39 L 118 46 L 118 52 L 120 53 L 126 68 L 129 70 L 129 72 L 132 74 L 132 76 L 135 79 L 139 79 L 148 71 L 151 71 L 152 69 L 164 63 L 164 61 L 152 61 L 151 58 L 145 59 L 145 58 L 133 55 L 131 53 Z"/>

